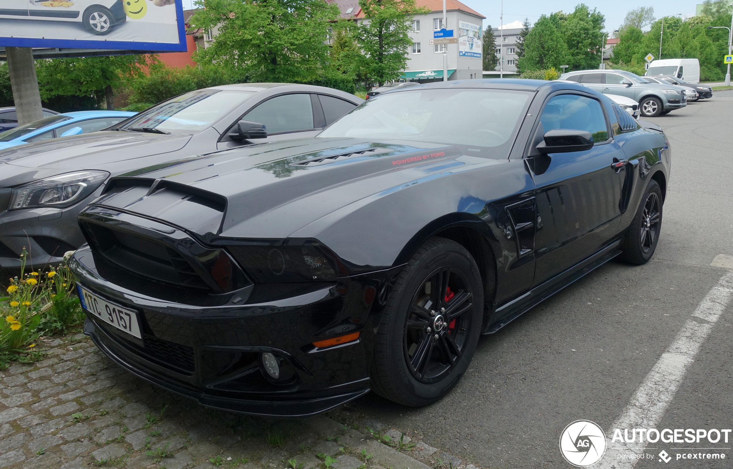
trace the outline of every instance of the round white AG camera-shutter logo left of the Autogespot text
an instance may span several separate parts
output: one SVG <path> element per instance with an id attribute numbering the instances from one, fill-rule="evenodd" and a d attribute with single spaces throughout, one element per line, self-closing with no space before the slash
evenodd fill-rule
<path id="1" fill-rule="evenodd" d="M 593 465 L 605 453 L 605 433 L 595 422 L 576 420 L 560 434 L 560 452 L 578 468 Z"/>

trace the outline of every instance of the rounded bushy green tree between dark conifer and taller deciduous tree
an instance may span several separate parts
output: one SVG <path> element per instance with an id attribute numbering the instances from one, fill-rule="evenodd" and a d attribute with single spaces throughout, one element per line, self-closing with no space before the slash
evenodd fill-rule
<path id="1" fill-rule="evenodd" d="M 567 45 L 556 21 L 546 15 L 540 16 L 524 42 L 524 56 L 519 59 L 520 70 L 559 68 L 566 60 Z"/>

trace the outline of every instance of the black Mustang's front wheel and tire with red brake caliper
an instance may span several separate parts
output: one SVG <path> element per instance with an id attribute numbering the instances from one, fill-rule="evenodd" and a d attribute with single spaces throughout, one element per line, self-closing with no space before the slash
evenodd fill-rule
<path id="1" fill-rule="evenodd" d="M 397 277 L 377 326 L 372 389 L 410 407 L 441 399 L 471 363 L 483 304 L 471 254 L 449 239 L 423 244 Z"/>

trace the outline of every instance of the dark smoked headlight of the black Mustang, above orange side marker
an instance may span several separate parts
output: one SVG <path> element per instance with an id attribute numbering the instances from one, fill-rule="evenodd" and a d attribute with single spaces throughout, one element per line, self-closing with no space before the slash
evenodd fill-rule
<path id="1" fill-rule="evenodd" d="M 229 246 L 227 249 L 255 283 L 336 280 L 331 261 L 314 246 Z"/>

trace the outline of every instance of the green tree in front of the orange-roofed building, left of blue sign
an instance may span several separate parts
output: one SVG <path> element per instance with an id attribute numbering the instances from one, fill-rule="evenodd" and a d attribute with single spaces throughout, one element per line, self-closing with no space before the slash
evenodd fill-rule
<path id="1" fill-rule="evenodd" d="M 358 50 L 348 54 L 349 60 L 369 83 L 397 80 L 407 67 L 413 16 L 430 10 L 416 7 L 415 0 L 359 0 L 359 7 L 364 20 L 354 30 Z"/>

